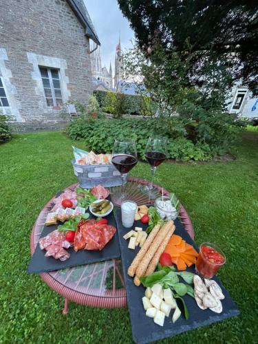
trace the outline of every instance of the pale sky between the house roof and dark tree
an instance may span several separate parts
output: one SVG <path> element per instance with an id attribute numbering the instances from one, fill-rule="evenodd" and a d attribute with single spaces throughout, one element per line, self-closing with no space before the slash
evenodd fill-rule
<path id="1" fill-rule="evenodd" d="M 109 70 L 109 63 L 111 61 L 114 73 L 119 33 L 122 49 L 128 49 L 131 47 L 130 41 L 134 37 L 133 31 L 129 27 L 127 19 L 122 16 L 116 0 L 84 1 L 101 43 L 102 67 L 106 65 Z"/>

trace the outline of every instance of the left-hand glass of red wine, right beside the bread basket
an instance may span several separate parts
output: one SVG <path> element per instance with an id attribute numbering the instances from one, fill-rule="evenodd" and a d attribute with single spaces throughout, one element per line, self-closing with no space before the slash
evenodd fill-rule
<path id="1" fill-rule="evenodd" d="M 122 175 L 122 192 L 120 199 L 125 198 L 127 173 L 137 164 L 136 142 L 129 138 L 115 140 L 112 151 L 112 164 Z"/>

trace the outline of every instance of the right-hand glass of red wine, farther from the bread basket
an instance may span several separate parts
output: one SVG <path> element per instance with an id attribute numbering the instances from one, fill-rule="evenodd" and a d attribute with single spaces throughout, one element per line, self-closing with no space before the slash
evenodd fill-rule
<path id="1" fill-rule="evenodd" d="M 151 184 L 144 186 L 142 191 L 149 195 L 150 198 L 155 198 L 156 193 L 153 188 L 153 179 L 157 166 L 159 166 L 166 159 L 166 138 L 162 136 L 150 137 L 145 151 L 144 156 L 151 165 Z"/>

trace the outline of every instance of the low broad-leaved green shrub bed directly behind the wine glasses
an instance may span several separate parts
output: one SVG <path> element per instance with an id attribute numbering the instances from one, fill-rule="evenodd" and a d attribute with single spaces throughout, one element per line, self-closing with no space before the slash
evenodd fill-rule
<path id="1" fill-rule="evenodd" d="M 149 136 L 162 135 L 169 140 L 168 158 L 208 160 L 212 155 L 206 144 L 193 144 L 182 136 L 182 124 L 177 118 L 76 120 L 69 124 L 68 133 L 73 140 L 85 140 L 87 147 L 96 153 L 111 153 L 116 138 L 129 136 L 136 140 L 138 156 L 143 159 Z"/>

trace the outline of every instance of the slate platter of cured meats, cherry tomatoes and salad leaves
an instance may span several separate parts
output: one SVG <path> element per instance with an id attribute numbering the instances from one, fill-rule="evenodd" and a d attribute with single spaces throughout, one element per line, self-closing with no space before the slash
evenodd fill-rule
<path id="1" fill-rule="evenodd" d="M 113 211 L 109 213 L 111 202 L 108 195 L 103 186 L 91 191 L 78 188 L 77 193 L 58 193 L 52 213 L 47 215 L 28 273 L 50 272 L 120 257 L 116 219 Z M 101 196 L 106 198 L 103 212 L 107 215 L 103 213 L 105 217 L 98 218 L 90 213 L 89 206 Z M 83 230 L 89 239 L 85 240 L 85 235 L 81 234 Z M 95 241 L 92 235 L 99 241 Z"/>

